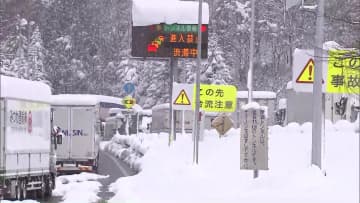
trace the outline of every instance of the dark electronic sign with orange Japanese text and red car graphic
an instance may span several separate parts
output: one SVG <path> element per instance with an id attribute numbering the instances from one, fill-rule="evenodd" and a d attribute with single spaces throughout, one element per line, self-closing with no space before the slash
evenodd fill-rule
<path id="1" fill-rule="evenodd" d="M 208 25 L 201 26 L 201 58 L 207 58 Z M 132 27 L 133 57 L 196 58 L 197 24 L 156 24 Z"/>

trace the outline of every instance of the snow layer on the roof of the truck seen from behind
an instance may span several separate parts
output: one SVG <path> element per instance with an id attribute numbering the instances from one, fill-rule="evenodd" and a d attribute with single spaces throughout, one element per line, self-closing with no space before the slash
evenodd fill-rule
<path id="1" fill-rule="evenodd" d="M 51 96 L 53 105 L 96 105 L 100 102 L 122 105 L 122 99 L 104 95 L 59 94 Z"/>

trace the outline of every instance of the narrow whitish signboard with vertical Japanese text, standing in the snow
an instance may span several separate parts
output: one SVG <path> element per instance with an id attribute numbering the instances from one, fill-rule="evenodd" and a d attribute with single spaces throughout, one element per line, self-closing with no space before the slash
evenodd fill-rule
<path id="1" fill-rule="evenodd" d="M 264 109 L 241 109 L 240 169 L 268 170 L 268 126 Z"/>

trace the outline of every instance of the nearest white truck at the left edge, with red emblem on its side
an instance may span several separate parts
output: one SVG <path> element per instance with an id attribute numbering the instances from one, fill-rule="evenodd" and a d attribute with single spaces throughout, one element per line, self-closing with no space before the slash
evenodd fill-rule
<path id="1" fill-rule="evenodd" d="M 50 87 L 0 75 L 0 199 L 51 196 L 55 159 Z"/>

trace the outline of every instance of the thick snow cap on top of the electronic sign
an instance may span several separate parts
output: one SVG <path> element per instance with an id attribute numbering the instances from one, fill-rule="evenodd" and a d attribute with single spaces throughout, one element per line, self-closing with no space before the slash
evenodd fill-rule
<path id="1" fill-rule="evenodd" d="M 198 8 L 197 1 L 133 0 L 133 25 L 197 24 Z M 202 4 L 202 24 L 209 24 L 209 5 L 207 3 Z"/>

